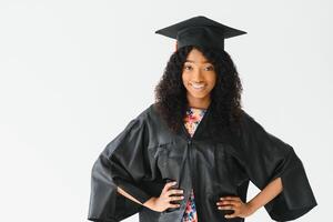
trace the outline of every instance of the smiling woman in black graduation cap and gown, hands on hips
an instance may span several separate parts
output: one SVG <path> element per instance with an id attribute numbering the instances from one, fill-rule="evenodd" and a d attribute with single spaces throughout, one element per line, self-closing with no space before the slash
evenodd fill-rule
<path id="1" fill-rule="evenodd" d="M 92 169 L 89 220 L 273 220 L 317 203 L 293 148 L 241 109 L 242 85 L 224 39 L 245 32 L 194 17 L 157 33 L 176 39 L 157 101 L 112 140 Z M 249 181 L 261 192 L 246 201 Z"/>

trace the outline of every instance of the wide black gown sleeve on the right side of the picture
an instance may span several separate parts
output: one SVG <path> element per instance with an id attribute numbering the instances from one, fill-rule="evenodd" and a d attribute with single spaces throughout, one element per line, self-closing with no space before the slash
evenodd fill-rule
<path id="1" fill-rule="evenodd" d="M 242 117 L 242 147 L 245 170 L 260 190 L 281 178 L 283 191 L 264 205 L 271 219 L 297 219 L 317 205 L 304 165 L 294 149 L 266 132 L 252 117 Z"/>

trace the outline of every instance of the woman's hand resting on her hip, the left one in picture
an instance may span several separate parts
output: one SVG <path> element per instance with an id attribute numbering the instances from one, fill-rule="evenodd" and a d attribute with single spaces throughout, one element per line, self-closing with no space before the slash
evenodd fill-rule
<path id="1" fill-rule="evenodd" d="M 179 208 L 180 204 L 170 203 L 171 201 L 179 201 L 179 200 L 184 199 L 183 195 L 180 195 L 180 194 L 183 194 L 183 190 L 170 189 L 175 184 L 176 184 L 175 181 L 165 183 L 160 196 L 151 198 L 143 205 L 148 206 L 149 209 L 151 209 L 153 211 L 158 211 L 158 212 L 163 212 L 169 208 L 172 208 L 172 209 Z M 171 196 L 171 195 L 176 195 L 176 196 Z"/>

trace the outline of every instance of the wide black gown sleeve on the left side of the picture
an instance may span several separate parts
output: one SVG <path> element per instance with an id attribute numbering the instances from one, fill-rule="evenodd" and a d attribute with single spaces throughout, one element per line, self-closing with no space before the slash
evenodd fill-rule
<path id="1" fill-rule="evenodd" d="M 133 119 L 100 153 L 91 171 L 88 220 L 115 222 L 141 210 L 141 204 L 118 193 L 117 186 L 141 203 L 152 196 L 140 186 L 142 180 L 152 180 L 147 137 L 144 121 Z"/>

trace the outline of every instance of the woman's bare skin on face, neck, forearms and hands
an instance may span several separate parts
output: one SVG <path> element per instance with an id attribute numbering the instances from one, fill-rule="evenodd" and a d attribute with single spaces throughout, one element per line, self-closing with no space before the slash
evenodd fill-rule
<path id="1" fill-rule="evenodd" d="M 190 107 L 206 109 L 211 102 L 210 92 L 216 82 L 216 73 L 214 67 L 204 56 L 193 48 L 189 53 L 183 65 L 182 81 L 186 89 L 186 98 Z M 203 84 L 202 89 L 194 89 L 193 84 Z M 171 189 L 175 185 L 173 182 L 165 183 L 160 196 L 151 198 L 144 203 L 140 203 L 129 193 L 118 188 L 118 192 L 131 199 L 132 201 L 142 204 L 153 211 L 163 212 L 169 208 L 179 208 L 179 204 L 172 204 L 170 201 L 179 201 L 183 199 L 183 191 Z M 216 202 L 218 210 L 233 210 L 232 214 L 226 214 L 225 218 L 248 218 L 258 209 L 265 205 L 274 199 L 283 190 L 281 178 L 271 181 L 260 193 L 258 193 L 248 203 L 242 202 L 239 196 L 221 196 Z M 176 194 L 178 196 L 170 196 Z"/>

